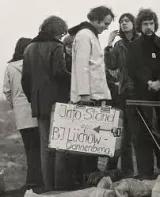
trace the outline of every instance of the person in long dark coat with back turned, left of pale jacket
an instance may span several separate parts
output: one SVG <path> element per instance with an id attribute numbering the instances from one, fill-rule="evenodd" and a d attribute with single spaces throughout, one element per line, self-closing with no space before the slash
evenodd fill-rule
<path id="1" fill-rule="evenodd" d="M 64 45 L 60 41 L 67 33 L 65 21 L 58 16 L 45 19 L 37 37 L 24 53 L 22 87 L 31 102 L 32 116 L 38 118 L 41 139 L 41 165 L 45 190 L 56 187 L 56 177 L 63 173 L 55 170 L 61 167 L 62 155 L 48 150 L 50 114 L 55 102 L 68 102 L 69 92 L 66 84 L 70 78 L 66 70 Z M 64 93 L 65 92 L 65 93 Z M 55 160 L 56 155 L 56 160 Z"/>

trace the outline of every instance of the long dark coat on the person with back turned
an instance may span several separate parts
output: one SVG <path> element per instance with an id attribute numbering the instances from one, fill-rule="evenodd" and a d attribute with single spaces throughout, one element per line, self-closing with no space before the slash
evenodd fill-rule
<path id="1" fill-rule="evenodd" d="M 69 100 L 70 75 L 66 70 L 63 44 L 32 42 L 24 53 L 22 87 L 32 107 L 33 117 L 48 118 L 55 102 Z"/>

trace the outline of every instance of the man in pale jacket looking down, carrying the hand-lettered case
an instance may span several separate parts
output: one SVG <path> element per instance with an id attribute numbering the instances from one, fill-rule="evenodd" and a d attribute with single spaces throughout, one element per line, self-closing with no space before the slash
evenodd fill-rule
<path id="1" fill-rule="evenodd" d="M 101 106 L 111 100 L 111 94 L 98 35 L 108 29 L 114 14 L 109 8 L 100 6 L 91 9 L 87 17 L 89 21 L 69 29 L 70 35 L 75 36 L 72 45 L 71 101 Z M 97 170 L 97 157 L 77 157 L 79 165 L 76 168 L 83 184 L 88 175 Z"/>

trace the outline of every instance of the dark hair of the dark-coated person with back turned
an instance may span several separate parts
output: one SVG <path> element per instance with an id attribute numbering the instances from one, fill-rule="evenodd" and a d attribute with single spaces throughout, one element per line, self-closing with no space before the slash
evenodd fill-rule
<path id="1" fill-rule="evenodd" d="M 47 34 L 50 37 L 66 34 L 68 26 L 66 22 L 58 16 L 50 16 L 46 18 L 40 26 L 40 32 Z"/>

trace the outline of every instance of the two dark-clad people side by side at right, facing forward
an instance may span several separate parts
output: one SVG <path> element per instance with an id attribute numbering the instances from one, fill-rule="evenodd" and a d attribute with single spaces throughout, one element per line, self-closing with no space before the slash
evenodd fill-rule
<path id="1" fill-rule="evenodd" d="M 154 154 L 157 167 L 160 168 L 160 150 L 146 126 L 152 129 L 155 118 L 158 124 L 159 108 L 154 105 L 138 107 L 143 114 L 141 118 L 135 106 L 126 105 L 126 99 L 159 101 L 160 39 L 155 34 L 158 19 L 152 10 L 143 9 L 136 20 L 130 13 L 122 14 L 119 25 L 120 30 L 110 34 L 108 46 L 105 48 L 105 65 L 113 105 L 124 112 L 121 167 L 127 176 L 133 175 L 133 145 L 138 177 L 151 179 L 154 177 Z M 112 47 L 117 34 L 121 39 Z M 157 125 L 155 139 L 158 144 L 159 128 Z M 114 163 L 117 164 L 116 162 Z"/>

